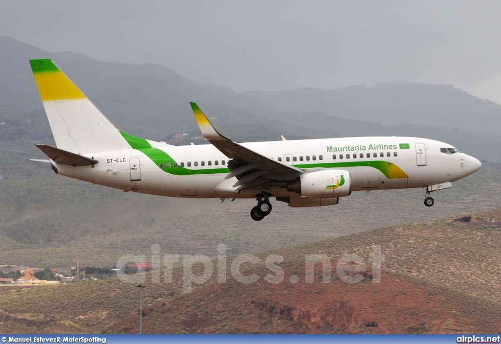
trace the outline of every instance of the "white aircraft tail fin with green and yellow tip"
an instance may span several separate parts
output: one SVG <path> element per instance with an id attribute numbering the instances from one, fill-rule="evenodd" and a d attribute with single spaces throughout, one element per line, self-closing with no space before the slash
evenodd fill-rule
<path id="1" fill-rule="evenodd" d="M 131 148 L 52 60 L 30 60 L 30 65 L 59 149 L 85 154 Z"/>

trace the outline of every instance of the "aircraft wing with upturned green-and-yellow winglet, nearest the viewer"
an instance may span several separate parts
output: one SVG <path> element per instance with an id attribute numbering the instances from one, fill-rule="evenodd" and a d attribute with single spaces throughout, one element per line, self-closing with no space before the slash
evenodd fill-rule
<path id="1" fill-rule="evenodd" d="M 198 105 L 195 103 L 190 103 L 190 105 L 205 139 L 221 153 L 233 159 L 228 164 L 231 172 L 225 179 L 236 177 L 238 181 L 233 185 L 236 190 L 261 185 L 266 181 L 284 182 L 294 180 L 303 173 L 303 170 L 297 167 L 273 160 L 222 136 L 212 126 Z"/>

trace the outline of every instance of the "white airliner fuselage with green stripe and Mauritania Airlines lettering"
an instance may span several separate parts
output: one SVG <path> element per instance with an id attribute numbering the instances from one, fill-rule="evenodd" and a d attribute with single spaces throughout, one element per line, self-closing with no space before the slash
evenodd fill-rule
<path id="1" fill-rule="evenodd" d="M 449 144 L 411 137 L 354 137 L 241 145 L 306 172 L 332 168 L 348 170 L 353 191 L 417 188 L 453 182 L 480 167 L 478 160 L 464 153 L 444 153 L 444 148 L 453 148 Z M 212 145 L 130 149 L 86 156 L 99 163 L 76 167 L 52 164 L 59 174 L 68 177 L 153 195 L 254 198 L 267 188 L 273 197 L 297 196 L 280 182 L 238 193 L 232 188 L 236 178 L 224 179 L 230 172 L 227 169 L 229 159 Z"/>

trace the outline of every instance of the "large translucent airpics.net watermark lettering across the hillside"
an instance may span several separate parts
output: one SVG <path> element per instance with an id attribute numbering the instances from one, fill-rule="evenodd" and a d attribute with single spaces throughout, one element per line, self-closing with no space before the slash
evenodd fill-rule
<path id="1" fill-rule="evenodd" d="M 160 269 L 164 270 L 163 283 L 173 282 L 173 267 L 174 264 L 182 264 L 182 278 L 183 278 L 183 292 L 190 293 L 193 284 L 203 284 L 207 282 L 214 272 L 214 262 L 217 268 L 217 283 L 226 283 L 227 269 L 226 269 L 226 250 L 225 244 L 217 245 L 217 259 L 212 261 L 205 254 L 183 254 L 180 261 L 180 254 L 163 254 L 163 266 L 161 264 L 162 256 L 160 253 L 160 245 L 151 245 L 151 283 L 160 283 Z M 333 259 L 335 257 L 332 257 Z M 127 274 L 125 267 L 134 263 L 136 266 L 146 264 L 146 254 L 125 254 L 117 261 L 117 275 L 118 278 L 124 283 L 145 283 L 146 274 L 135 273 Z M 242 264 L 245 266 L 255 265 L 262 260 L 254 254 L 240 254 L 233 258 L 230 266 L 231 277 L 239 283 L 249 284 L 257 282 L 262 276 L 256 273 L 244 275 L 240 271 Z M 267 269 L 270 271 L 265 276 L 264 280 L 268 283 L 281 283 L 286 278 L 284 269 L 280 263 L 284 261 L 284 257 L 280 254 L 268 255 L 264 262 Z M 380 245 L 372 245 L 372 254 L 369 255 L 369 261 L 372 263 L 372 270 L 367 271 L 365 261 L 356 254 L 346 254 L 339 258 L 336 263 L 336 274 L 338 278 L 345 283 L 358 283 L 369 277 L 372 283 L 381 282 L 381 262 L 384 261 L 384 255 L 381 254 Z M 203 264 L 203 273 L 195 274 L 192 270 L 195 263 Z M 313 283 L 314 268 L 317 263 L 322 266 L 322 282 L 330 283 L 331 278 L 331 257 L 327 254 L 305 254 L 305 283 Z M 297 274 L 288 275 L 289 281 L 293 284 L 298 283 L 300 277 Z"/>

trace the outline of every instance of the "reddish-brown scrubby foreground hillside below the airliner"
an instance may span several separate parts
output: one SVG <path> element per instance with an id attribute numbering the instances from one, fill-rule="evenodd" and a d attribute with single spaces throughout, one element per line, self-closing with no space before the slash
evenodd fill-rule
<path id="1" fill-rule="evenodd" d="M 174 268 L 173 283 L 152 284 L 147 273 L 144 304 L 151 307 L 145 309 L 145 332 L 499 332 L 501 288 L 495 277 L 501 266 L 501 209 L 468 216 L 470 223 L 447 217 L 255 253 L 261 261 L 240 269 L 243 275 L 261 277 L 250 284 L 231 277 L 234 256 L 227 257 L 226 283 L 216 283 L 214 261 L 211 280 L 190 294 L 181 292 L 180 267 Z M 345 254 L 359 255 L 373 270 L 372 245 L 380 245 L 384 255 L 381 283 L 340 281 L 336 263 Z M 270 254 L 284 257 L 280 266 L 285 278 L 278 284 L 263 279 L 270 273 L 264 265 Z M 320 264 L 314 283 L 304 283 L 305 254 L 330 258 L 331 283 L 322 282 Z M 203 266 L 194 264 L 193 272 L 201 274 Z M 290 283 L 292 274 L 299 283 Z M 138 290 L 118 278 L 2 290 L 0 309 L 9 313 L 28 313 L 37 304 L 45 317 L 54 319 L 53 325 L 71 322 L 82 331 L 137 332 L 133 314 Z M 15 321 L 6 326 L 17 328 Z M 50 331 L 50 326 L 31 330 Z"/>

